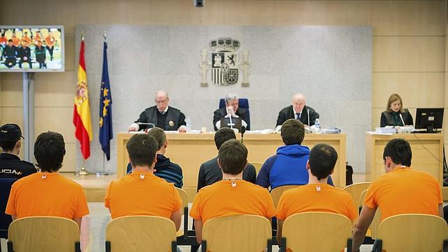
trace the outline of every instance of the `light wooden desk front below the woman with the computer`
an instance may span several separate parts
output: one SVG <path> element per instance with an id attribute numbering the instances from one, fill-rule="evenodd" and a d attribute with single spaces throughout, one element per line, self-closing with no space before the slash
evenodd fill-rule
<path id="1" fill-rule="evenodd" d="M 443 134 L 393 134 L 366 133 L 366 181 L 373 181 L 385 174 L 383 150 L 392 139 L 405 139 L 413 151 L 411 167 L 434 176 L 443 186 Z M 448 198 L 448 187 L 442 187 L 444 200 Z"/>

